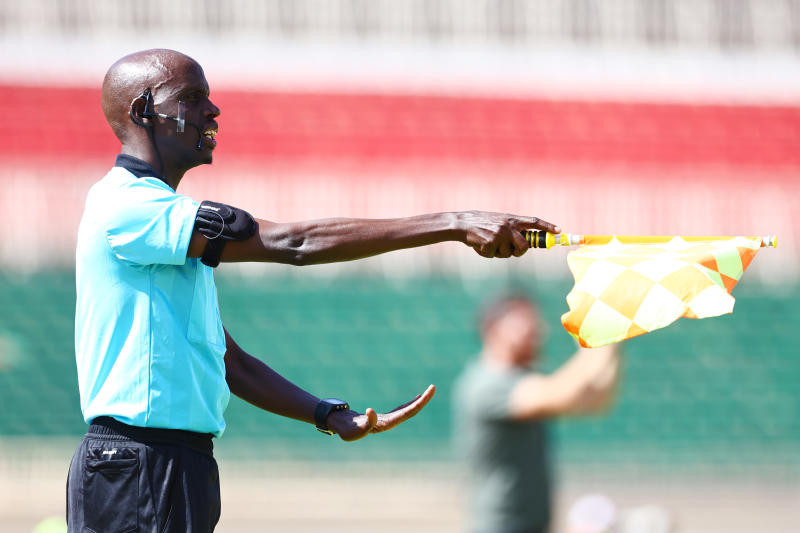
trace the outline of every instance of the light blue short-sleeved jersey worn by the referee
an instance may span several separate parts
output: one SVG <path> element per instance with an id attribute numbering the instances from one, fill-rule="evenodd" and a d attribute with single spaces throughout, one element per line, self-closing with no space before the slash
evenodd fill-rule
<path id="1" fill-rule="evenodd" d="M 198 207 L 160 179 L 120 166 L 90 189 L 75 310 L 87 423 L 106 415 L 216 436 L 225 429 L 230 391 L 214 273 L 186 257 Z"/>

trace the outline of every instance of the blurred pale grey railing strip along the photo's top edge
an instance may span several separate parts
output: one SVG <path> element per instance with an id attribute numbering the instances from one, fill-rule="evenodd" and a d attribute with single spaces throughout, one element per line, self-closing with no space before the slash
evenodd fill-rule
<path id="1" fill-rule="evenodd" d="M 797 49 L 794 0 L 103 0 L 0 2 L 12 37 L 202 32 L 220 38 Z"/>

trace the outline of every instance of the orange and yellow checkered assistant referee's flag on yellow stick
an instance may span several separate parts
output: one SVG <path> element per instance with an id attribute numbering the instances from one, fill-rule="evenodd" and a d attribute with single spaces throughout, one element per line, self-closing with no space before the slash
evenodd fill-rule
<path id="1" fill-rule="evenodd" d="M 587 237 L 567 256 L 575 287 L 567 295 L 569 311 L 561 317 L 564 328 L 586 347 L 636 337 L 682 316 L 733 312 L 733 287 L 758 249 L 774 246 L 774 238 L 768 244 L 761 237 L 645 237 L 645 244 Z"/>

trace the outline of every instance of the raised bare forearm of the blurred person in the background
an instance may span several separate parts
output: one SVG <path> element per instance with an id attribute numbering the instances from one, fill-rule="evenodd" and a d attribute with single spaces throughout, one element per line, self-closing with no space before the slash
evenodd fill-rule
<path id="1" fill-rule="evenodd" d="M 551 375 L 520 381 L 509 398 L 518 420 L 597 413 L 614 398 L 620 377 L 619 344 L 580 348 Z"/>

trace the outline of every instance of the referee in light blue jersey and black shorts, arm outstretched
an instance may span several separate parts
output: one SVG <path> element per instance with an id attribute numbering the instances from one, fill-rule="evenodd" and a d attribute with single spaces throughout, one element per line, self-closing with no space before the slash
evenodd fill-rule
<path id="1" fill-rule="evenodd" d="M 209 164 L 220 110 L 203 69 L 171 50 L 137 52 L 103 80 L 106 120 L 122 144 L 92 186 L 78 230 L 75 352 L 89 430 L 67 481 L 70 532 L 210 532 L 220 516 L 212 440 L 230 393 L 346 441 L 414 416 L 434 388 L 386 414 L 351 410 L 293 385 L 223 327 L 213 268 L 309 265 L 460 241 L 485 257 L 525 253 L 536 218 L 438 213 L 392 220 L 275 223 L 176 193 Z"/>

